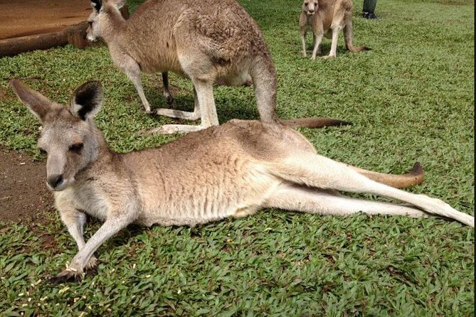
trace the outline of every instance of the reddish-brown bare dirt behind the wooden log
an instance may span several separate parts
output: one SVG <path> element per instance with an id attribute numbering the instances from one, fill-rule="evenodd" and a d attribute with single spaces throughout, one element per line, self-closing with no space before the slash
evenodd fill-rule
<path id="1" fill-rule="evenodd" d="M 0 40 L 49 33 L 85 21 L 89 0 L 0 0 Z"/>

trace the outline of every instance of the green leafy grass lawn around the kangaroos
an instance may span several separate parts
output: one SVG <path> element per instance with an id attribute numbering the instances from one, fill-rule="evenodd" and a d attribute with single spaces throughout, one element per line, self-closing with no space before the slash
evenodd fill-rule
<path id="1" fill-rule="evenodd" d="M 411 188 L 474 214 L 474 3 L 379 1 L 379 21 L 359 17 L 354 44 L 340 36 L 337 58 L 300 56 L 301 1 L 240 1 L 258 21 L 279 75 L 282 118 L 325 115 L 350 127 L 302 129 L 321 154 L 382 172 L 420 161 L 425 183 Z M 137 3 L 136 3 L 137 4 Z M 136 4 L 132 4 L 134 9 Z M 323 53 L 330 47 L 324 39 Z M 70 46 L 0 59 L 0 146 L 36 149 L 39 124 L 11 91 L 21 77 L 66 103 L 85 80 L 105 85 L 97 116 L 112 149 L 159 146 L 179 136 L 137 131 L 151 118 L 107 48 Z M 193 107 L 191 84 L 171 75 L 176 104 Z M 146 95 L 164 107 L 160 75 Z M 218 117 L 256 119 L 253 90 L 217 87 Z M 102 245 L 96 274 L 51 285 L 76 252 L 58 215 L 36 227 L 0 227 L 0 315 L 25 316 L 473 316 L 474 230 L 406 217 L 319 217 L 265 210 L 199 227 L 131 227 Z M 86 237 L 99 224 L 90 222 Z M 53 238 L 46 243 L 47 238 Z M 48 247 L 46 247 L 48 245 Z"/>

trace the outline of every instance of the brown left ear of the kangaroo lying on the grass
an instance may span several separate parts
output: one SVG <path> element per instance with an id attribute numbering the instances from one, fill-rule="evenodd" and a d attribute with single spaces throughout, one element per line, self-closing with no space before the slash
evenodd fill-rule
<path id="1" fill-rule="evenodd" d="M 41 93 L 23 84 L 21 80 L 10 80 L 10 85 L 14 88 L 18 99 L 23 102 L 23 104 L 26 104 L 26 107 L 30 109 L 31 113 L 35 114 L 41 123 L 45 122 L 48 112 L 54 108 L 53 102 L 41 95 Z"/>

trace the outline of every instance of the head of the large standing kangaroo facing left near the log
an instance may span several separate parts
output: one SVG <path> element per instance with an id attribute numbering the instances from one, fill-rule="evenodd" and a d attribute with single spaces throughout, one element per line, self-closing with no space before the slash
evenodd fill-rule
<path id="1" fill-rule="evenodd" d="M 119 14 L 119 9 L 126 3 L 126 0 L 91 0 L 92 12 L 88 18 L 89 27 L 86 30 L 88 41 L 95 42 L 99 38 L 105 38 L 113 31 L 112 11 L 115 16 Z"/>

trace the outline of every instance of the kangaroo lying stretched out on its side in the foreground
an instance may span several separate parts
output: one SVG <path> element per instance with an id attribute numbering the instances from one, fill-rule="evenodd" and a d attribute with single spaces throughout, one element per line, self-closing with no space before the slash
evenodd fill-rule
<path id="1" fill-rule="evenodd" d="M 93 120 L 103 99 L 99 82 L 78 87 L 70 107 L 51 102 L 20 80 L 11 85 L 43 125 L 38 146 L 48 154 L 46 183 L 79 249 L 55 276 L 58 280 L 80 278 L 95 267 L 97 248 L 132 222 L 194 226 L 280 208 L 320 215 L 433 214 L 474 227 L 474 217 L 441 200 L 395 188 L 423 181 L 418 163 L 401 176 L 367 171 L 319 156 L 290 127 L 238 119 L 159 148 L 117 154 Z M 349 198 L 338 191 L 411 205 Z M 85 214 L 104 220 L 88 242 L 83 240 Z"/>

